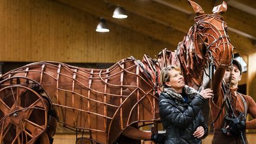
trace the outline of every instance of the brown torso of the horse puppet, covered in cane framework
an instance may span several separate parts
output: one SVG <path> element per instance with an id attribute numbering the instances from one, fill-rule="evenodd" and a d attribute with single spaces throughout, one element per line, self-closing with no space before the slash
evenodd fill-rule
<path id="1" fill-rule="evenodd" d="M 88 139 L 98 143 L 113 143 L 127 126 L 139 127 L 158 119 L 158 98 L 153 85 L 134 58 L 120 60 L 108 69 L 85 69 L 57 62 L 31 63 L 6 73 L 1 86 L 18 85 L 7 80 L 12 78 L 31 89 L 39 85 L 40 95 L 49 99 L 57 121 L 70 129 L 88 132 Z"/>

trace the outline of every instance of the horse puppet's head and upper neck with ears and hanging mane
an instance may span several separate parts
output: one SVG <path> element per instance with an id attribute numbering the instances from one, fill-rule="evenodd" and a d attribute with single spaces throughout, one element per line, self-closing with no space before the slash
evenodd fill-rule
<path id="1" fill-rule="evenodd" d="M 231 63 L 233 46 L 230 43 L 227 25 L 220 14 L 226 12 L 223 2 L 213 8 L 213 14 L 204 14 L 196 2 L 188 0 L 196 12 L 196 22 L 178 44 L 177 57 L 183 70 L 185 83 L 200 87 L 204 68 L 212 63 L 218 68 Z"/>

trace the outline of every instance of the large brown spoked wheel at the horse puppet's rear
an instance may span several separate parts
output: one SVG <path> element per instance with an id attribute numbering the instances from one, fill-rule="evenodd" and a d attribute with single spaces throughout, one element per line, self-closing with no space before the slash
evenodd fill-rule
<path id="1" fill-rule="evenodd" d="M 47 127 L 47 105 L 24 85 L 0 89 L 1 143 L 34 143 Z"/>

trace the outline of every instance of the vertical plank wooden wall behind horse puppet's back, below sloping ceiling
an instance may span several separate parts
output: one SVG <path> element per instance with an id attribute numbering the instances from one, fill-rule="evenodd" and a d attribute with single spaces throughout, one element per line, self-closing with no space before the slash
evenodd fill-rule
<path id="1" fill-rule="evenodd" d="M 5 62 L 113 63 L 177 47 L 109 21 L 110 33 L 97 33 L 100 18 L 57 1 L 1 0 L 0 18 L 0 61 Z"/>

